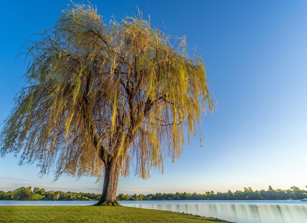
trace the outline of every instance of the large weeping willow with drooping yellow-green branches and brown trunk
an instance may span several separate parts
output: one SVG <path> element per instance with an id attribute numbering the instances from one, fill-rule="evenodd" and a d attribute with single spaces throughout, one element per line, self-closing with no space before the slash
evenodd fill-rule
<path id="1" fill-rule="evenodd" d="M 184 37 L 127 16 L 106 24 L 91 5 L 71 4 L 28 46 L 27 85 L 4 122 L 0 153 L 21 153 L 41 174 L 103 178 L 99 204 L 116 203 L 119 175 L 144 179 L 179 158 L 184 134 L 212 112 L 205 66 Z M 200 133 L 200 138 L 203 136 Z M 131 165 L 133 163 L 133 165 Z"/>

